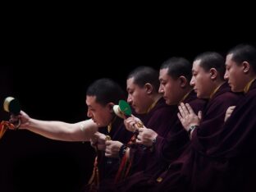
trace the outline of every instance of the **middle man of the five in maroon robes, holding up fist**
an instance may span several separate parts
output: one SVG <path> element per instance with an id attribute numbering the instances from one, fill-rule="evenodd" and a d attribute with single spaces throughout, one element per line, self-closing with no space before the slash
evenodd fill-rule
<path id="1" fill-rule="evenodd" d="M 142 162 L 144 163 L 145 171 L 139 171 L 127 178 L 126 181 L 121 182 L 117 187 L 118 190 L 140 190 L 141 188 L 139 189 L 137 186 L 146 184 L 148 179 L 144 176 L 145 174 L 152 176 L 155 171 L 159 171 L 159 169 L 166 167 L 167 162 L 171 162 L 173 159 L 177 158 L 189 144 L 189 136 L 182 128 L 181 122 L 176 116 L 176 113 L 178 112 L 177 104 L 184 101 L 191 103 L 191 106 L 194 107 L 196 112 L 203 110 L 203 107 L 205 106 L 205 101 L 203 99 L 196 98 L 192 87 L 190 87 L 190 79 L 191 64 L 184 58 L 172 57 L 162 64 L 159 75 L 161 83 L 159 92 L 163 94 L 166 103 L 171 105 L 175 112 L 169 114 L 171 120 L 170 124 L 166 125 L 161 131 L 155 132 L 146 127 L 139 129 L 139 135 L 136 142 L 138 144 L 150 146 L 150 144 L 153 143 L 153 140 L 155 140 L 153 152 L 150 153 L 147 161 Z M 127 119 L 127 121 L 131 127 L 135 123 L 135 121 L 129 119 Z M 167 135 L 168 139 L 173 143 L 176 143 L 176 148 L 171 151 L 172 155 L 170 158 L 168 157 L 167 159 L 164 157 L 163 161 L 159 163 L 159 159 L 162 159 L 159 150 L 162 150 L 163 144 L 167 143 Z"/>

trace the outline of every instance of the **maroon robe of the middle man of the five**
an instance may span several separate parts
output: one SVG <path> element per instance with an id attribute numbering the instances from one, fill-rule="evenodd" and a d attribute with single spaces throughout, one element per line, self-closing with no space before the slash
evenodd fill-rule
<path id="1" fill-rule="evenodd" d="M 190 103 L 195 112 L 202 111 L 206 104 L 205 100 L 196 98 L 194 91 L 185 98 L 184 102 Z M 139 171 L 128 177 L 126 181 L 121 182 L 116 190 L 144 190 L 149 185 L 149 178 L 152 178 L 156 172 L 165 169 L 168 163 L 178 158 L 188 146 L 190 139 L 177 117 L 178 106 L 173 105 L 171 107 L 173 111 L 169 114 L 170 123 L 166 125 L 165 129 L 162 129 L 162 132 L 158 133 L 155 150 L 147 160 L 148 166 L 145 167 L 144 171 Z M 171 146 L 172 144 L 175 146 Z"/>

